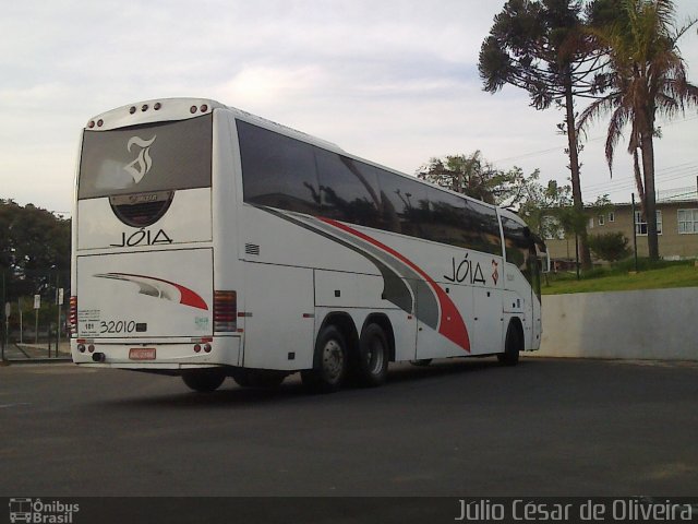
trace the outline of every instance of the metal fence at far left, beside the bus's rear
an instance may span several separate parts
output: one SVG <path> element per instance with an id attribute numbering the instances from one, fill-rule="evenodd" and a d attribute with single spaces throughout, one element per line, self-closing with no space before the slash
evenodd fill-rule
<path id="1" fill-rule="evenodd" d="M 2 272 L 0 356 L 5 361 L 70 357 L 70 272 Z"/>

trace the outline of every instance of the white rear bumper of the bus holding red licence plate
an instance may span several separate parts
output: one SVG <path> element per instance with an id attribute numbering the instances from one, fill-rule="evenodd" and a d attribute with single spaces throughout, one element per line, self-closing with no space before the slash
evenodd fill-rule
<path id="1" fill-rule="evenodd" d="M 82 350 L 81 350 L 82 349 Z M 240 337 L 219 336 L 212 342 L 100 342 L 71 341 L 73 361 L 85 367 L 177 370 L 238 366 Z"/>

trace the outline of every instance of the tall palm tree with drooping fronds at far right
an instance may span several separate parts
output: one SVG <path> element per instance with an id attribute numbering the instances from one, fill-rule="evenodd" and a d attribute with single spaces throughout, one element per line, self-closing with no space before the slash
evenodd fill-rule
<path id="1" fill-rule="evenodd" d="M 698 87 L 686 79 L 678 39 L 696 23 L 674 25 L 673 0 L 616 0 L 615 22 L 592 29 L 610 57 L 611 92 L 592 103 L 580 116 L 581 129 L 611 112 L 605 144 L 613 176 L 615 146 L 625 128 L 630 128 L 628 153 L 633 155 L 635 179 L 647 221 L 649 255 L 659 258 L 654 190 L 654 145 L 659 136 L 658 116 L 673 118 L 686 106 L 698 105 Z"/>

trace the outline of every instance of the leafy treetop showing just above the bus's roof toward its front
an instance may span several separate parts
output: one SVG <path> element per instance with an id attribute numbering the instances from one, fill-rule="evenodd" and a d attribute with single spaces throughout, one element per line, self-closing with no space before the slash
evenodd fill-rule
<path id="1" fill-rule="evenodd" d="M 526 198 L 527 182 L 531 177 L 538 179 L 538 171 L 527 179 L 519 167 L 496 169 L 476 151 L 470 155 L 433 157 L 417 170 L 417 177 L 490 204 L 517 207 Z"/>

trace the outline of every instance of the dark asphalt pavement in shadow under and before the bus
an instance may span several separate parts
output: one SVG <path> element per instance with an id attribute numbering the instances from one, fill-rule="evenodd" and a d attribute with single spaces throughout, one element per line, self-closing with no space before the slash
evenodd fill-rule
<path id="1" fill-rule="evenodd" d="M 696 496 L 698 366 L 396 366 L 313 396 L 0 368 L 0 496 Z"/>

